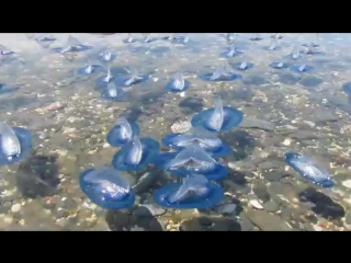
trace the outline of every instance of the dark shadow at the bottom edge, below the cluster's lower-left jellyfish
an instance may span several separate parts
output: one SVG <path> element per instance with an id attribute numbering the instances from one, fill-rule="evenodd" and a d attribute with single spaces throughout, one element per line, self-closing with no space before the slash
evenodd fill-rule
<path id="1" fill-rule="evenodd" d="M 133 231 L 138 228 L 140 228 L 139 231 L 163 231 L 157 216 L 154 216 L 146 207 L 143 207 L 143 213 L 139 211 L 137 215 L 132 210 L 124 213 L 107 210 L 105 220 L 111 231 Z"/>

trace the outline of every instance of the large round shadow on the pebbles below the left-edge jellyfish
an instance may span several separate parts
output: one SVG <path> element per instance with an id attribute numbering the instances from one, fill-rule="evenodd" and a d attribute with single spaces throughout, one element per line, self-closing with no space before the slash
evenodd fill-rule
<path id="1" fill-rule="evenodd" d="M 60 182 L 55 156 L 33 153 L 23 161 L 15 174 L 16 187 L 23 196 L 37 198 L 57 193 Z"/>

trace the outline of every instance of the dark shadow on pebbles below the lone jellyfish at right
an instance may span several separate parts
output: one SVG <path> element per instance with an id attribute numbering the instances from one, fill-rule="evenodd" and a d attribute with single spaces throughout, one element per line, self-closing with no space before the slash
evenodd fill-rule
<path id="1" fill-rule="evenodd" d="M 314 213 L 327 219 L 341 219 L 344 217 L 346 211 L 341 205 L 335 203 L 329 196 L 313 187 L 308 187 L 298 194 L 301 202 L 310 202 L 315 204 L 312 208 Z"/>

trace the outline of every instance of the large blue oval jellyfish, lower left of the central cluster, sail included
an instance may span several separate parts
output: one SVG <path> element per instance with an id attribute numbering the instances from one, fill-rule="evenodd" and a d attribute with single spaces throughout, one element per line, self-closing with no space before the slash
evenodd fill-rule
<path id="1" fill-rule="evenodd" d="M 89 199 L 106 209 L 129 208 L 135 203 L 135 193 L 129 183 L 109 167 L 82 172 L 79 185 Z"/>

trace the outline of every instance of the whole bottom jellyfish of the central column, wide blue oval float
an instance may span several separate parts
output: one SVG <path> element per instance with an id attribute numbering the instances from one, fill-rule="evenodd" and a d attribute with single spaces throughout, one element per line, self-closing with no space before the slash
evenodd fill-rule
<path id="1" fill-rule="evenodd" d="M 223 188 L 201 174 L 191 174 L 183 183 L 168 184 L 154 193 L 156 204 L 176 209 L 205 209 L 223 198 Z"/>

